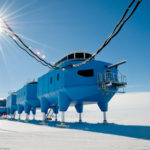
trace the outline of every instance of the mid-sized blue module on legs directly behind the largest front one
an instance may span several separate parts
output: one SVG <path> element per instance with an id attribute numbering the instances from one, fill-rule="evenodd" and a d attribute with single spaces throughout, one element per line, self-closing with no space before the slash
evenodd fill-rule
<path id="1" fill-rule="evenodd" d="M 26 113 L 26 120 L 28 120 L 30 111 L 32 111 L 34 119 L 36 107 L 40 107 L 40 102 L 37 98 L 37 82 L 30 82 L 17 91 L 17 110 L 19 119 L 20 114 L 23 111 Z"/>

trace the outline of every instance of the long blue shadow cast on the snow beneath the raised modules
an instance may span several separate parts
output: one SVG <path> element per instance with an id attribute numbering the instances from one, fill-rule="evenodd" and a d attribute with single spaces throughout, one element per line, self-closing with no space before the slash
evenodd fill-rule
<path id="1" fill-rule="evenodd" d="M 14 120 L 18 121 L 18 120 Z M 21 120 L 19 122 L 30 123 L 35 125 L 41 125 L 41 121 L 39 120 L 29 120 L 25 122 Z M 60 122 L 55 121 L 46 121 L 43 125 L 50 126 L 50 127 L 57 127 Z M 120 125 L 114 123 L 76 123 L 76 122 L 66 122 L 67 129 L 75 129 L 75 130 L 83 130 L 83 131 L 90 131 L 96 133 L 104 133 L 104 134 L 112 134 L 112 135 L 119 135 L 119 136 L 126 136 L 138 139 L 145 139 L 150 140 L 150 126 L 140 126 L 140 125 Z"/>

